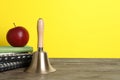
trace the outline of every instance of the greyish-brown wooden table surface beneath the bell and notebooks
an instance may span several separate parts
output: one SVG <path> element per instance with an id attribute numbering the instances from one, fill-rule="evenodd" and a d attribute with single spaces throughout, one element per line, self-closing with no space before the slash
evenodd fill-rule
<path id="1" fill-rule="evenodd" d="M 24 68 L 0 73 L 0 80 L 120 80 L 120 59 L 50 59 L 57 69 L 46 75 Z"/>

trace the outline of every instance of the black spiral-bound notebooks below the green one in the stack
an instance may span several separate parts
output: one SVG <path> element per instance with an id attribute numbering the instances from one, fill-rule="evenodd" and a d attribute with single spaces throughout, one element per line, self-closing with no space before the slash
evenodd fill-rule
<path id="1" fill-rule="evenodd" d="M 0 72 L 27 67 L 32 60 L 28 53 L 0 53 Z"/>

